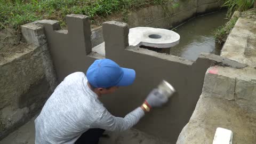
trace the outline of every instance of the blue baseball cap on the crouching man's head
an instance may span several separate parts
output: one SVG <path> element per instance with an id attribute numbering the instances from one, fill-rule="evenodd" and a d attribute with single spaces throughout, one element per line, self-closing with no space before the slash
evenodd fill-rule
<path id="1" fill-rule="evenodd" d="M 93 87 L 128 86 L 134 82 L 135 70 L 122 68 L 110 59 L 95 60 L 86 72 Z"/>

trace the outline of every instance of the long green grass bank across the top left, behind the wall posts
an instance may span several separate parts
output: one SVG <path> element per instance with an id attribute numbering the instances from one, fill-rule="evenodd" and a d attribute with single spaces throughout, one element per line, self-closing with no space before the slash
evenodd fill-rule
<path id="1" fill-rule="evenodd" d="M 19 26 L 42 19 L 60 21 L 65 26 L 67 14 L 84 14 L 95 18 L 125 12 L 149 5 L 162 5 L 170 0 L 0 0 L 0 29 Z M 175 5 L 174 5 L 175 6 Z"/>

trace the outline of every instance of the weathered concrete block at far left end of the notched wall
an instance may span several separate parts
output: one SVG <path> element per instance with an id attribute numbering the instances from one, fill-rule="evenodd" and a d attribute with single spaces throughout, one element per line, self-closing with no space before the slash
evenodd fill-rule
<path id="1" fill-rule="evenodd" d="M 35 22 L 22 25 L 21 33 L 26 41 L 30 44 L 41 46 L 46 43 L 43 27 L 37 26 Z"/>

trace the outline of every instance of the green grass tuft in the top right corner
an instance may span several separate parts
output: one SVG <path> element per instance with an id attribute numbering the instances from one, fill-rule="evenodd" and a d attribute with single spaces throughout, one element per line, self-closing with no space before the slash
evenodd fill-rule
<path id="1" fill-rule="evenodd" d="M 226 0 L 222 5 L 228 8 L 227 15 L 230 18 L 235 11 L 246 11 L 253 7 L 254 0 Z"/>

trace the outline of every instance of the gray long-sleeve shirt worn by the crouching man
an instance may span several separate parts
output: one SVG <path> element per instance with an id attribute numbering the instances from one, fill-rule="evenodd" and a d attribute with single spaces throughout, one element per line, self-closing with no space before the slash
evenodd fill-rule
<path id="1" fill-rule="evenodd" d="M 124 118 L 111 115 L 87 85 L 85 74 L 73 73 L 57 86 L 36 118 L 35 143 L 74 143 L 91 128 L 124 131 L 144 115 L 140 107 Z"/>

